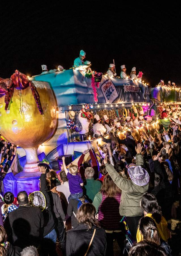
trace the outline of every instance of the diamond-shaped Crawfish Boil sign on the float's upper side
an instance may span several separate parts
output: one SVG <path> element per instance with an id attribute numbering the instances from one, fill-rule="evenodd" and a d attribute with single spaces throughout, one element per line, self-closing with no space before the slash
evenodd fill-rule
<path id="1" fill-rule="evenodd" d="M 101 85 L 101 91 L 104 95 L 106 103 L 113 103 L 119 97 L 116 87 L 110 79 Z"/>

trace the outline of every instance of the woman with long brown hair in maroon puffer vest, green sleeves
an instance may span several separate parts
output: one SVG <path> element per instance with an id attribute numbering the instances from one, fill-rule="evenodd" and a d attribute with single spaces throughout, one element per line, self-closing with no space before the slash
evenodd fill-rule
<path id="1" fill-rule="evenodd" d="M 98 213 L 98 221 L 106 231 L 107 254 L 113 255 L 113 240 L 116 238 L 118 244 L 123 249 L 124 235 L 120 228 L 119 205 L 121 200 L 121 190 L 116 186 L 111 177 L 105 175 L 100 191 L 95 195 L 93 205 Z M 116 232 L 115 232 L 116 231 Z"/>

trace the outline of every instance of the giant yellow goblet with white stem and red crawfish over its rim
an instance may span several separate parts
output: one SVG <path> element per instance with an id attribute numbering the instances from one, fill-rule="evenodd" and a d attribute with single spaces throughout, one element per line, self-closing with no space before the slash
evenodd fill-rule
<path id="1" fill-rule="evenodd" d="M 56 122 L 56 101 L 48 82 L 31 82 L 18 70 L 11 79 L 0 78 L 0 133 L 26 152 L 22 178 L 40 175 L 37 149 L 54 134 Z"/>

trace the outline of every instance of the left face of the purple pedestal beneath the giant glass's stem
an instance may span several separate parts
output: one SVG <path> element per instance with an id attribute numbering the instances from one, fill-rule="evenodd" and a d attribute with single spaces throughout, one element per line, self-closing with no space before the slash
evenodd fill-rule
<path id="1" fill-rule="evenodd" d="M 4 192 L 12 192 L 14 196 L 17 196 L 17 188 L 16 188 L 16 179 L 12 172 L 6 174 L 5 178 L 3 179 L 4 184 Z"/>

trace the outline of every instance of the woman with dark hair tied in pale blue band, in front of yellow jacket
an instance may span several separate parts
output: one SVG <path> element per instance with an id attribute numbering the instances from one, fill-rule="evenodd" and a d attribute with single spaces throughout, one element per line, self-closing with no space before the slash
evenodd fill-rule
<path id="1" fill-rule="evenodd" d="M 170 246 L 167 242 L 159 238 L 159 233 L 155 221 L 150 217 L 142 217 L 139 220 L 139 230 L 143 240 L 154 242 L 165 249 L 167 255 L 171 255 Z"/>

